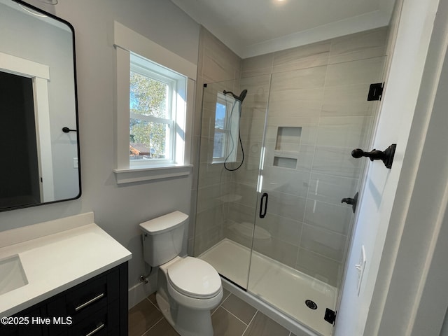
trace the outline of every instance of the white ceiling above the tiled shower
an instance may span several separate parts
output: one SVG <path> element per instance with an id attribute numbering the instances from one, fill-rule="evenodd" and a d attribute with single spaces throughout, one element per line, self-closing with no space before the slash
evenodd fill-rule
<path id="1" fill-rule="evenodd" d="M 242 58 L 388 25 L 395 0 L 172 0 Z"/>

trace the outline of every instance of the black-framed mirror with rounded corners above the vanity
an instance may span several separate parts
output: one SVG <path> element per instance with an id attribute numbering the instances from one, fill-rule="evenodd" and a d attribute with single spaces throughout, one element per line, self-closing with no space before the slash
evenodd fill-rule
<path id="1" fill-rule="evenodd" d="M 0 211 L 80 197 L 74 30 L 0 0 Z"/>

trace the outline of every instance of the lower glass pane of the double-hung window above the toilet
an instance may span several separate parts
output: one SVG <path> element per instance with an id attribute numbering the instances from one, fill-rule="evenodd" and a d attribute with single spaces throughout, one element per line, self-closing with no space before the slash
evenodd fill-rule
<path id="1" fill-rule="evenodd" d="M 170 159 L 169 125 L 130 119 L 130 160 Z"/>

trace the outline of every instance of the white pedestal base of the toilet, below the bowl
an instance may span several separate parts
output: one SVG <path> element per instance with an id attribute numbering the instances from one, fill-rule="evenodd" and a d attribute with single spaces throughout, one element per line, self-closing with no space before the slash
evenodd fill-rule
<path id="1" fill-rule="evenodd" d="M 177 304 L 176 321 L 172 316 L 172 307 L 159 292 L 155 294 L 160 311 L 181 336 L 213 336 L 211 313 L 209 310 L 195 310 Z"/>

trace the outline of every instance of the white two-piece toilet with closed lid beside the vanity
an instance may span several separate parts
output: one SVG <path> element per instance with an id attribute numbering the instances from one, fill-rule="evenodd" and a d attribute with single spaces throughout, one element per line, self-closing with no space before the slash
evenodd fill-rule
<path id="1" fill-rule="evenodd" d="M 213 336 L 211 309 L 223 298 L 216 269 L 204 260 L 181 258 L 188 215 L 181 211 L 140 224 L 144 259 L 159 266 L 155 295 L 162 314 L 181 336 Z"/>

